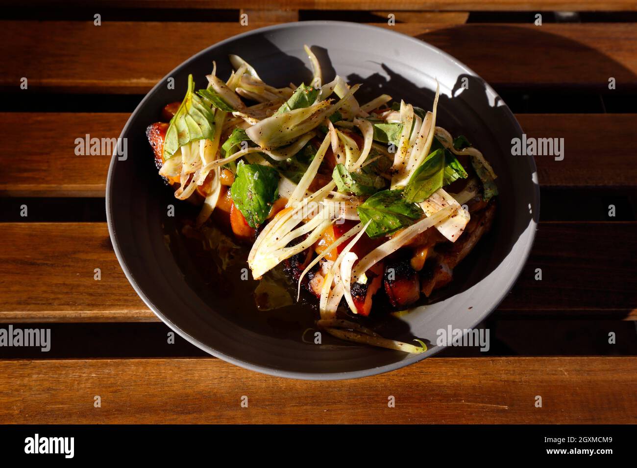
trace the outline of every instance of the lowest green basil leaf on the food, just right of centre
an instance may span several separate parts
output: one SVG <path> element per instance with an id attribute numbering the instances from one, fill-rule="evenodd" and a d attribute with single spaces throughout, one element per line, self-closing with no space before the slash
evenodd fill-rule
<path id="1" fill-rule="evenodd" d="M 404 199 L 403 190 L 377 192 L 356 211 L 363 224 L 371 220 L 365 230 L 370 238 L 390 236 L 397 230 L 412 225 L 423 216 L 420 206 Z"/>

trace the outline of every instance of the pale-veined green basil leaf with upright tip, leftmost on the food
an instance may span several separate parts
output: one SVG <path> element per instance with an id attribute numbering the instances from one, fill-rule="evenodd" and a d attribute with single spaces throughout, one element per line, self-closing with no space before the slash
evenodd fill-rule
<path id="1" fill-rule="evenodd" d="M 188 90 L 173 118 L 170 119 L 164 140 L 164 160 L 171 158 L 179 148 L 191 141 L 203 138 L 213 139 L 214 113 L 201 98 L 192 92 L 195 83 L 188 75 Z"/>

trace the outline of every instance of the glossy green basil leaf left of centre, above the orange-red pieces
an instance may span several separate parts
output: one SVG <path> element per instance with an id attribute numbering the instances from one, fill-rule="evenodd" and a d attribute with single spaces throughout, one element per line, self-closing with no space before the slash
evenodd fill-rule
<path id="1" fill-rule="evenodd" d="M 237 165 L 230 195 L 250 227 L 258 227 L 268 217 L 272 204 L 278 199 L 278 181 L 279 174 L 274 167 L 243 161 Z"/>

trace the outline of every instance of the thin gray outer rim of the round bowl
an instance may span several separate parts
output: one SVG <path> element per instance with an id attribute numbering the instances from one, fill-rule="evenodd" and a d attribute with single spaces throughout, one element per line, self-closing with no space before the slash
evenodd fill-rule
<path id="1" fill-rule="evenodd" d="M 453 62 L 456 66 L 466 71 L 466 73 L 476 77 L 480 76 L 477 73 L 475 73 L 475 71 L 470 69 L 468 66 L 466 66 L 459 60 L 455 59 L 455 57 L 453 57 L 452 55 L 449 55 L 447 52 L 443 52 L 443 50 L 440 50 L 436 46 L 433 46 L 427 43 L 426 41 L 423 41 L 422 39 L 413 38 L 412 36 L 408 36 L 407 34 L 403 34 L 397 31 L 392 31 L 391 29 L 387 29 L 384 27 L 348 22 L 348 21 L 334 21 L 334 20 L 310 20 L 310 21 L 303 21 L 303 22 L 299 21 L 299 22 L 289 22 L 284 24 L 269 25 L 269 26 L 260 27 L 257 29 L 251 29 L 250 31 L 246 31 L 246 32 L 241 32 L 240 34 L 236 34 L 234 36 L 231 36 L 230 38 L 224 39 L 222 41 L 218 41 L 217 43 L 214 43 L 206 47 L 205 49 L 197 52 L 196 54 L 192 55 L 188 59 L 183 60 L 175 68 L 173 68 L 166 75 L 164 75 L 164 77 L 161 78 L 161 80 L 159 80 L 159 82 L 157 82 L 157 84 L 155 84 L 155 86 L 152 87 L 152 89 L 150 89 L 147 92 L 146 96 L 143 97 L 143 99 L 140 101 L 138 106 L 136 106 L 135 110 L 132 111 L 131 117 L 129 117 L 128 120 L 126 121 L 126 124 L 124 125 L 122 129 L 122 132 L 120 132 L 119 138 L 124 138 L 124 135 L 127 134 L 127 132 L 129 131 L 129 127 L 131 126 L 131 121 L 133 120 L 134 116 L 136 115 L 136 113 L 138 113 L 138 111 L 141 110 L 141 108 L 143 108 L 143 106 L 146 105 L 147 101 L 150 99 L 152 94 L 154 94 L 155 90 L 159 88 L 164 82 L 166 82 L 166 79 L 172 76 L 178 68 L 183 66 L 183 64 L 190 62 L 191 60 L 194 60 L 197 57 L 201 57 L 202 55 L 206 55 L 206 53 L 209 53 L 213 48 L 216 48 L 217 46 L 235 41 L 236 39 L 245 38 L 248 36 L 252 36 L 254 34 L 262 34 L 263 32 L 268 32 L 268 31 L 278 31 L 280 29 L 303 27 L 304 25 L 333 25 L 333 26 L 338 25 L 340 27 L 361 29 L 368 32 L 373 31 L 376 34 L 378 33 L 387 34 L 388 36 L 399 37 L 401 38 L 401 40 L 406 39 L 406 40 L 412 41 L 413 43 L 417 43 L 419 46 L 429 48 L 431 52 L 440 54 L 441 56 L 445 57 L 445 59 L 450 60 L 450 62 Z M 480 79 L 482 80 L 482 78 Z M 485 91 L 494 94 L 494 96 L 498 96 L 497 92 L 489 85 L 489 83 L 485 82 L 484 80 L 482 80 L 482 82 L 483 82 L 483 85 L 485 86 Z M 513 112 L 502 100 L 501 100 L 501 106 L 506 107 L 506 110 L 508 110 L 510 114 L 512 124 L 516 127 L 516 130 L 519 131 L 520 134 L 522 134 L 523 132 L 522 127 L 520 127 L 520 124 L 517 121 L 517 118 L 515 118 L 515 115 L 513 114 Z M 127 261 L 120 251 L 117 232 L 115 232 L 115 229 L 113 227 L 113 215 L 111 214 L 111 209 L 112 209 L 111 197 L 113 197 L 113 190 L 111 190 L 111 185 L 112 185 L 113 171 L 115 170 L 114 168 L 115 168 L 116 160 L 117 160 L 117 152 L 115 151 L 113 155 L 111 156 L 110 165 L 108 167 L 108 176 L 106 178 L 106 195 L 105 195 L 106 223 L 108 224 L 108 233 L 111 239 L 111 244 L 113 245 L 113 250 L 115 251 L 115 256 L 117 257 L 120 267 L 122 268 L 122 271 L 124 271 L 124 274 L 127 280 L 129 281 L 129 283 L 131 283 L 132 288 L 138 294 L 140 299 L 148 306 L 148 308 L 152 310 L 153 313 L 162 320 L 162 322 L 166 323 L 166 325 L 168 325 L 168 327 L 171 330 L 179 334 L 181 337 L 183 337 L 183 339 L 189 341 L 189 343 L 194 344 L 194 346 L 197 346 L 197 348 L 203 351 L 206 351 L 206 353 L 209 353 L 210 355 L 214 357 L 225 360 L 226 362 L 230 362 L 231 364 L 238 365 L 239 367 L 243 367 L 244 369 L 249 369 L 251 371 L 256 371 L 262 374 L 268 374 L 268 375 L 276 376 L 276 377 L 304 379 L 304 380 L 343 380 L 343 379 L 355 379 L 355 378 L 373 376 L 377 374 L 383 374 L 385 372 L 395 371 L 396 369 L 401 369 L 401 367 L 405 367 L 407 365 L 414 364 L 415 362 L 419 362 L 425 358 L 435 355 L 436 353 L 439 353 L 441 350 L 443 350 L 443 348 L 446 348 L 446 346 L 434 346 L 433 348 L 428 349 L 424 353 L 412 355 L 411 357 L 393 362 L 392 364 L 385 364 L 378 367 L 370 367 L 369 369 L 362 369 L 359 371 L 327 373 L 327 372 L 284 371 L 282 369 L 276 369 L 275 367 L 266 367 L 263 365 L 253 364 L 252 362 L 247 362 L 247 361 L 235 358 L 231 355 L 222 353 L 218 350 L 215 350 L 215 348 L 212 348 L 210 345 L 202 343 L 198 339 L 192 337 L 189 333 L 182 330 L 175 322 L 173 322 L 170 318 L 164 315 L 161 312 L 161 310 L 159 310 L 159 308 L 155 307 L 153 302 L 150 301 L 150 299 L 147 297 L 145 292 L 139 287 L 134 276 L 132 276 L 132 273 L 129 270 Z M 482 313 L 482 315 L 477 316 L 475 323 L 472 325 L 472 327 L 475 327 L 475 325 L 485 320 L 497 308 L 497 306 L 499 306 L 499 304 L 503 301 L 506 295 L 510 292 L 513 285 L 515 285 L 515 282 L 517 281 L 520 274 L 522 273 L 522 269 L 524 269 L 524 266 L 526 265 L 526 262 L 529 259 L 531 248 L 533 248 L 535 233 L 538 227 L 538 221 L 540 217 L 540 188 L 538 185 L 538 171 L 537 171 L 537 166 L 535 164 L 535 160 L 533 157 L 527 157 L 527 160 L 532 170 L 531 179 L 534 182 L 533 202 L 535 207 L 534 213 L 533 213 L 533 216 L 531 216 L 529 225 L 534 225 L 535 229 L 531 230 L 531 233 L 529 234 L 530 235 L 529 242 L 527 243 L 526 246 L 524 246 L 525 248 L 524 252 L 521 252 L 520 260 L 522 261 L 520 261 L 519 265 L 516 267 L 517 271 L 515 271 L 515 274 L 512 274 L 509 276 L 505 287 L 500 288 L 501 294 L 499 294 L 499 297 L 497 297 L 497 299 L 493 301 L 493 306 L 490 309 L 487 309 L 484 313 Z"/>

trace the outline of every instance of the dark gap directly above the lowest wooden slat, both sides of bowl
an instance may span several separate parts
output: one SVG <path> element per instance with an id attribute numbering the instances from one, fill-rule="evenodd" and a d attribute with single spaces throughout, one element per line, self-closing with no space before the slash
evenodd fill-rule
<path id="1" fill-rule="evenodd" d="M 210 357 L 180 336 L 168 341 L 169 329 L 154 323 L 13 323 L 15 329 L 50 329 L 52 343 L 46 353 L 34 346 L 0 348 L 0 359 L 189 358 Z M 0 329 L 8 328 L 6 323 Z M 490 348 L 450 346 L 433 358 L 450 357 L 637 357 L 635 322 L 585 317 L 510 320 L 490 316 L 480 324 L 489 329 Z M 615 343 L 608 343 L 608 333 Z"/>

